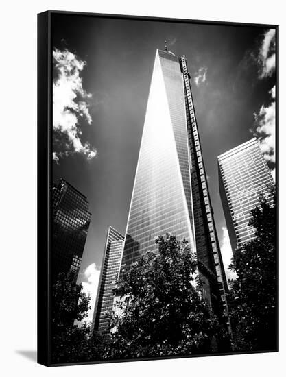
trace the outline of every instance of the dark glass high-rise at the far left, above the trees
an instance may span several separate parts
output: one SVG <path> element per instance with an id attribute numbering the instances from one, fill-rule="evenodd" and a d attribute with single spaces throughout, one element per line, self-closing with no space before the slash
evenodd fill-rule
<path id="1" fill-rule="evenodd" d="M 58 273 L 75 271 L 78 276 L 91 212 L 86 197 L 62 178 L 52 189 L 52 245 L 53 281 Z"/>

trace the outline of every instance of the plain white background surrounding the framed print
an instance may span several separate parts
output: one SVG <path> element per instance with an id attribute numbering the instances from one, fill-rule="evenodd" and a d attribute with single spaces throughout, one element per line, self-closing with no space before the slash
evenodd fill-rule
<path id="1" fill-rule="evenodd" d="M 156 5 L 155 5 L 156 4 Z M 36 350 L 36 14 L 48 9 L 280 25 L 281 204 L 285 212 L 285 10 L 283 1 L 5 1 L 1 5 L 1 363 L 2 376 L 281 376 L 285 366 L 285 273 L 281 352 L 48 369 Z M 283 236 L 285 219 L 281 219 Z M 280 266 L 285 265 L 281 242 Z M 282 270 L 282 268 L 281 268 Z M 23 356 L 23 353 L 29 355 Z M 285 367 L 284 367 L 285 369 Z"/>

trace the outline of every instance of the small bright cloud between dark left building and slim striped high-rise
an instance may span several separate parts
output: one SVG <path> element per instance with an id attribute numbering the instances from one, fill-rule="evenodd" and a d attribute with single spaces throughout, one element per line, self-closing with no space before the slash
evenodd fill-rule
<path id="1" fill-rule="evenodd" d="M 93 320 L 93 311 L 95 308 L 95 300 L 97 296 L 97 287 L 99 283 L 100 270 L 97 269 L 95 263 L 92 263 L 82 273 L 84 280 L 82 282 L 82 291 L 91 297 L 91 310 L 88 312 L 88 317 L 84 321 Z"/>

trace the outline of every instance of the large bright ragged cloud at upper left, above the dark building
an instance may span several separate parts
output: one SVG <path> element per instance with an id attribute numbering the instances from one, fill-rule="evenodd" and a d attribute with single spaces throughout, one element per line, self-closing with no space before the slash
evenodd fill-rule
<path id="1" fill-rule="evenodd" d="M 53 69 L 56 73 L 53 78 L 53 130 L 64 135 L 65 143 L 62 145 L 66 148 L 53 155 L 56 162 L 59 162 L 59 157 L 73 153 L 84 154 L 88 160 L 97 154 L 88 142 L 83 144 L 81 141 L 82 119 L 89 125 L 92 123 L 87 103 L 92 95 L 82 87 L 81 73 L 85 65 L 86 62 L 67 49 L 53 49 Z"/>

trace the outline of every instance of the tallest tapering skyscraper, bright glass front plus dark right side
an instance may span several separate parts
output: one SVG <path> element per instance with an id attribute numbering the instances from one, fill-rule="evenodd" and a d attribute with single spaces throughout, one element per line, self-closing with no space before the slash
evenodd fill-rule
<path id="1" fill-rule="evenodd" d="M 198 258 L 203 295 L 227 310 L 226 277 L 184 56 L 156 51 L 121 266 L 156 250 L 159 234 L 186 239 Z"/>

